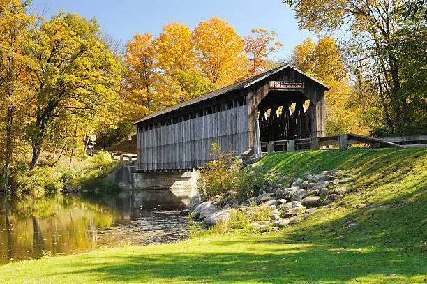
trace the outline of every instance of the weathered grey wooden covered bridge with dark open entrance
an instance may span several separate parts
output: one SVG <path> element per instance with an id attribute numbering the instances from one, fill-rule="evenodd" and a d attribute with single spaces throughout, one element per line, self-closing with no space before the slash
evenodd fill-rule
<path id="1" fill-rule="evenodd" d="M 327 90 L 281 66 L 167 107 L 135 123 L 138 169 L 196 169 L 212 160 L 212 142 L 241 154 L 260 142 L 322 137 Z"/>

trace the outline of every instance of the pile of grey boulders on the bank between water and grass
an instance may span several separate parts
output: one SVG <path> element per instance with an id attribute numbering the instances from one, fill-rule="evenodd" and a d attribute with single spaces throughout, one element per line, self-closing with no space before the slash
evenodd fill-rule
<path id="1" fill-rule="evenodd" d="M 190 200 L 188 209 L 181 213 L 191 213 L 205 224 L 215 225 L 230 218 L 230 209 L 246 211 L 251 205 L 257 204 L 270 209 L 271 215 L 269 220 L 250 224 L 250 227 L 282 227 L 299 221 L 299 218 L 295 218 L 299 214 L 310 214 L 316 207 L 340 200 L 353 187 L 352 181 L 350 174 L 342 170 L 323 171 L 320 174 L 304 172 L 302 177 L 295 179 L 279 177 L 280 183 L 266 181 L 265 188 L 258 190 L 255 197 L 243 202 L 237 200 L 236 191 L 216 195 L 206 202 L 202 202 L 200 195 L 196 195 Z"/>

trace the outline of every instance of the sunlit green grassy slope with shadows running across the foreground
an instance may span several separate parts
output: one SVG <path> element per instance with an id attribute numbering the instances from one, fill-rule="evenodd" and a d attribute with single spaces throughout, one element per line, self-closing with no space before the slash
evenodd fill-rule
<path id="1" fill-rule="evenodd" d="M 8 264 L 0 267 L 0 283 L 426 283 L 424 149 L 276 153 L 261 163 L 292 175 L 350 170 L 357 190 L 340 207 L 278 232 Z M 368 206 L 357 208 L 362 203 Z M 357 225 L 348 227 L 349 220 Z"/>

